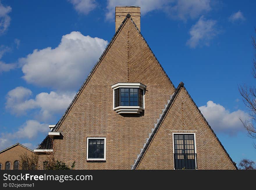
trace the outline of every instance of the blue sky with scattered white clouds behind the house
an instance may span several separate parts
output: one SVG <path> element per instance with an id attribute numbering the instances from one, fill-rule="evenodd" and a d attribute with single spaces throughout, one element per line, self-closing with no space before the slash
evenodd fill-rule
<path id="1" fill-rule="evenodd" d="M 256 161 L 238 119 L 248 118 L 238 85 L 255 83 L 256 1 L 1 0 L 0 149 L 33 149 L 58 122 L 115 33 L 116 5 L 141 6 L 141 33 L 173 84 L 184 82 L 235 162 Z"/>

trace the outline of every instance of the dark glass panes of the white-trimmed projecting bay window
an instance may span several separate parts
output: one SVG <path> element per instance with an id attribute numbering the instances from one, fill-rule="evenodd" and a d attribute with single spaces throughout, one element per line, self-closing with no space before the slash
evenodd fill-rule
<path id="1" fill-rule="evenodd" d="M 141 106 L 143 107 L 143 90 L 140 88 L 115 89 L 115 107 Z"/>

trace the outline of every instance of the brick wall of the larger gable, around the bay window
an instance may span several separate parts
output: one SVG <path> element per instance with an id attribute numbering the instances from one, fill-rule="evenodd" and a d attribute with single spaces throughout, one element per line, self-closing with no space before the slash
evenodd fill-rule
<path id="1" fill-rule="evenodd" d="M 118 82 L 147 86 L 145 112 L 119 115 L 113 111 L 113 89 Z M 130 169 L 157 122 L 174 88 L 138 31 L 127 19 L 108 52 L 63 120 L 54 140 L 56 159 L 75 169 Z M 87 137 L 106 137 L 106 162 L 86 162 Z"/>

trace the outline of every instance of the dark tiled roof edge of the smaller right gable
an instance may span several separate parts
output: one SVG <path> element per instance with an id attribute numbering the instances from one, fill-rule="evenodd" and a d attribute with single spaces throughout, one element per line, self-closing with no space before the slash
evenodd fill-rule
<path id="1" fill-rule="evenodd" d="M 220 146 L 222 147 L 222 149 L 224 150 L 225 154 L 227 155 L 227 157 L 229 158 L 229 160 L 232 162 L 232 164 L 234 165 L 234 167 L 236 169 L 237 166 L 235 164 L 235 162 L 232 160 L 232 158 L 230 158 L 230 155 L 227 153 L 226 149 L 224 148 L 224 146 L 221 144 L 220 140 L 218 139 L 218 137 L 216 136 L 216 134 L 214 133 L 213 129 L 211 128 L 211 126 L 209 125 L 209 123 L 206 121 L 205 117 L 203 116 L 203 114 L 201 113 L 200 109 L 198 108 L 198 106 L 195 104 L 194 100 L 191 98 L 191 96 L 189 95 L 188 91 L 186 90 L 186 88 L 184 87 L 184 83 L 180 82 L 178 87 L 176 88 L 175 93 L 173 94 L 170 102 L 168 103 L 165 111 L 163 112 L 159 122 L 157 123 L 157 126 L 155 127 L 154 131 L 152 132 L 150 138 L 147 139 L 147 143 L 145 144 L 145 146 L 143 147 L 140 155 L 138 156 L 135 164 L 133 165 L 133 167 L 131 169 L 135 170 L 136 167 L 138 166 L 138 164 L 141 162 L 143 155 L 145 154 L 147 148 L 150 146 L 150 143 L 152 142 L 154 136 L 157 133 L 157 130 L 159 129 L 159 127 L 161 126 L 163 120 L 166 117 L 166 114 L 168 113 L 168 110 L 171 108 L 171 106 L 173 105 L 173 102 L 175 101 L 175 98 L 177 97 L 177 95 L 179 94 L 179 91 L 181 90 L 181 88 L 183 87 L 183 89 L 185 90 L 186 94 L 188 95 L 188 97 L 191 99 L 193 105 L 195 106 L 195 108 L 197 109 L 197 111 L 200 113 L 201 117 L 203 118 L 204 122 L 207 124 L 207 126 L 209 127 L 209 129 L 211 130 L 211 132 L 213 133 L 214 137 L 216 138 L 216 140 L 218 141 L 218 143 L 220 144 Z"/>

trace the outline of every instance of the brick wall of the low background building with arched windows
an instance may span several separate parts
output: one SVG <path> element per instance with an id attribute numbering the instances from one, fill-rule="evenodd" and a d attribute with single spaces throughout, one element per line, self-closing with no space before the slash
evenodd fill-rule
<path id="1" fill-rule="evenodd" d="M 2 169 L 5 169 L 6 162 L 10 162 L 10 169 L 13 169 L 13 164 L 16 160 L 19 161 L 19 169 L 22 169 L 22 163 L 20 162 L 19 156 L 23 155 L 24 153 L 27 155 L 34 154 L 32 151 L 24 148 L 23 146 L 20 146 L 19 144 L 9 150 L 0 153 L 0 163 L 2 164 Z"/>

